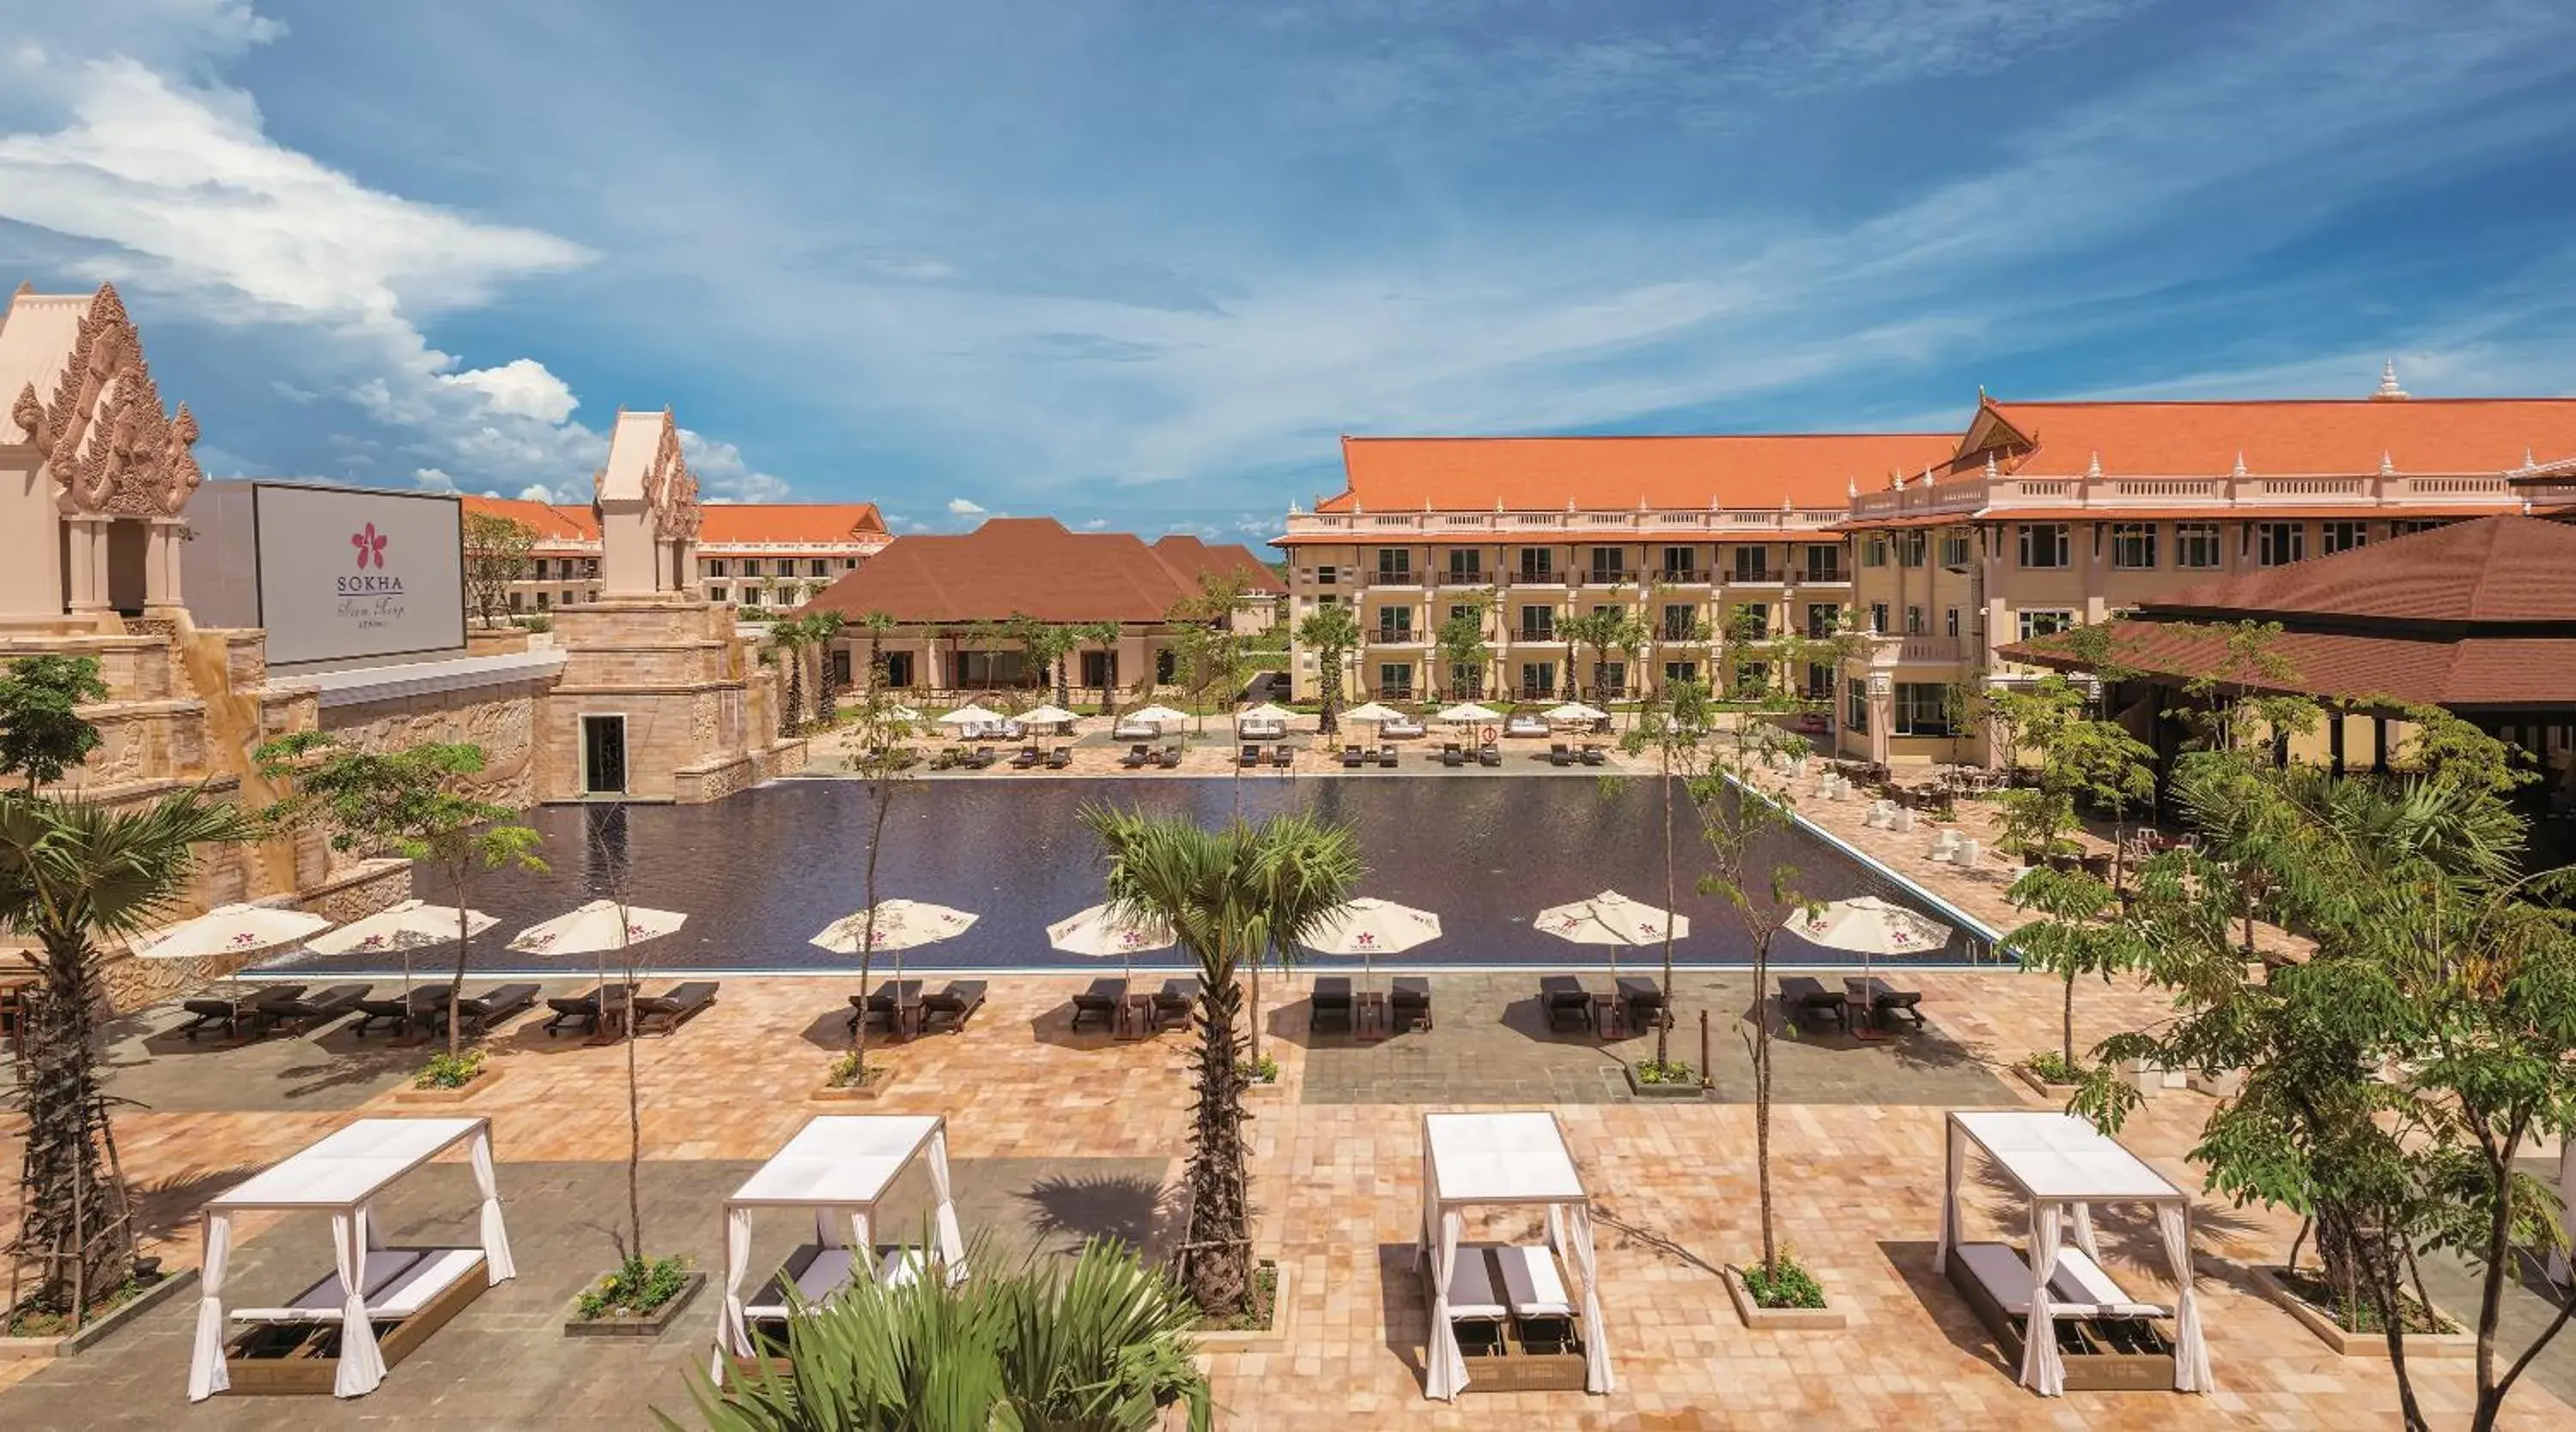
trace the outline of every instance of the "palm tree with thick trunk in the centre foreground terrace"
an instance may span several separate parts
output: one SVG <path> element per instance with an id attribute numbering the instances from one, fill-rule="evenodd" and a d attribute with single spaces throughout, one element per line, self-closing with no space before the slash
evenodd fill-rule
<path id="1" fill-rule="evenodd" d="M 1244 1169 L 1244 1064 L 1234 986 L 1262 950 L 1303 945 L 1350 899 L 1360 847 L 1350 827 L 1309 814 L 1200 829 L 1188 819 L 1090 806 L 1108 855 L 1110 907 L 1162 922 L 1198 958 L 1198 1107 L 1182 1174 L 1180 1277 L 1200 1311 L 1252 1303 L 1252 1190 Z"/>

